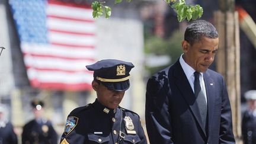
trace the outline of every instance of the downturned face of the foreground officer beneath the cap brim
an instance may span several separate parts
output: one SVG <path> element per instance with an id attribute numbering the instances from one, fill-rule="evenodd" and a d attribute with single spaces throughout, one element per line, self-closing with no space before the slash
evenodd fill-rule
<path id="1" fill-rule="evenodd" d="M 96 81 L 92 81 L 92 88 L 97 92 L 98 101 L 108 108 L 117 108 L 124 96 L 124 91 L 113 91 Z"/>

